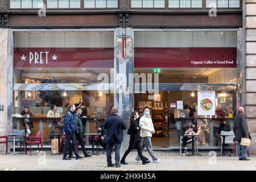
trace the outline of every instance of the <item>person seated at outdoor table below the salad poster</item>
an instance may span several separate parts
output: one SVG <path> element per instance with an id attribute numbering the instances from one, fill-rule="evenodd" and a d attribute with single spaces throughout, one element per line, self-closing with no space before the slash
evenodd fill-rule
<path id="1" fill-rule="evenodd" d="M 193 121 L 192 126 L 189 127 L 187 131 L 185 131 L 184 137 L 182 138 L 182 148 L 181 148 L 181 154 L 182 155 L 185 155 L 188 151 L 187 143 L 192 142 L 192 137 L 189 137 L 189 133 L 191 133 L 191 135 L 198 135 L 197 122 L 196 121 Z"/>

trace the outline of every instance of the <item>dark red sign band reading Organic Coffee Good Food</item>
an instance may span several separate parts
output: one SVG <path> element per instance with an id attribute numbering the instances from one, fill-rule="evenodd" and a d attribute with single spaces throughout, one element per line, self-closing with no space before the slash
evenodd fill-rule
<path id="1" fill-rule="evenodd" d="M 236 68 L 237 48 L 135 48 L 137 68 Z"/>

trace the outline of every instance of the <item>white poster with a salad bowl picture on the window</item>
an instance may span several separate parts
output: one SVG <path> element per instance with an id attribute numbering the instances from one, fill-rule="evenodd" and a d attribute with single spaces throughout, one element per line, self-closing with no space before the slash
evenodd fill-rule
<path id="1" fill-rule="evenodd" d="M 215 91 L 197 92 L 198 115 L 215 115 Z"/>

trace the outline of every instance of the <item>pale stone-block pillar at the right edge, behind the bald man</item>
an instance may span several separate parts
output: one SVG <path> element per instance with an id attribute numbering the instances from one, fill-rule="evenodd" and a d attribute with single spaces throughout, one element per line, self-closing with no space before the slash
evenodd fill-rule
<path id="1" fill-rule="evenodd" d="M 246 118 L 251 134 L 250 153 L 256 154 L 256 0 L 246 0 L 244 4 L 245 18 L 245 97 Z"/>

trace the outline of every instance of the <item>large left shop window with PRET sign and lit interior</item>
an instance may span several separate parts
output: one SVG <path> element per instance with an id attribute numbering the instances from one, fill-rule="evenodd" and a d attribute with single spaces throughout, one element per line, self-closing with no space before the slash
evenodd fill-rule
<path id="1" fill-rule="evenodd" d="M 51 126 L 60 118 L 47 118 L 53 105 L 62 116 L 69 103 L 84 102 L 93 118 L 86 130 L 97 133 L 114 104 L 114 32 L 14 32 L 13 75 L 13 113 L 30 107 L 31 135 L 43 130 L 44 144 L 51 144 L 53 130 L 59 133 Z M 14 129 L 24 129 L 22 119 L 13 122 Z"/>

